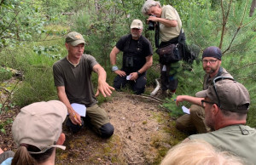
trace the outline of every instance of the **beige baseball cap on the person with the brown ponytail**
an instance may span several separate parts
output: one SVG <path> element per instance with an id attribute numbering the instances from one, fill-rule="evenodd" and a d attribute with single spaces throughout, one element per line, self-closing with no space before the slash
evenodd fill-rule
<path id="1" fill-rule="evenodd" d="M 20 110 L 12 126 L 15 143 L 34 145 L 44 153 L 52 147 L 66 149 L 55 145 L 62 132 L 62 122 L 67 117 L 67 107 L 61 101 L 50 100 L 27 105 Z"/>

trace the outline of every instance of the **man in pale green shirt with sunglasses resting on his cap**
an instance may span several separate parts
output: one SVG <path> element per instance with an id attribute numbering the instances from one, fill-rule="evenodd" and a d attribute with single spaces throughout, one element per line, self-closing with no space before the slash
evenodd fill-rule
<path id="1" fill-rule="evenodd" d="M 217 77 L 207 90 L 195 94 L 205 109 L 207 126 L 215 130 L 184 139 L 204 139 L 208 143 L 256 163 L 256 129 L 246 126 L 250 95 L 241 83 L 230 77 Z"/>

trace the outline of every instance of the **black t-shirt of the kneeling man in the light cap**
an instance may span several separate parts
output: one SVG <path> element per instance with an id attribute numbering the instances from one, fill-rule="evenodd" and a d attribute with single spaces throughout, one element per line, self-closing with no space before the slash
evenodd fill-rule
<path id="1" fill-rule="evenodd" d="M 131 34 L 121 37 L 116 48 L 123 52 L 122 69 L 126 74 L 140 70 L 146 63 L 146 57 L 153 54 L 151 43 L 146 37 L 134 40 Z"/>

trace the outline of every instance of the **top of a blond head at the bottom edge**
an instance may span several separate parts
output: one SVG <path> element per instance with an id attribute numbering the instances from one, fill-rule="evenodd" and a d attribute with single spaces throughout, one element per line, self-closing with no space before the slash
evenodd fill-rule
<path id="1" fill-rule="evenodd" d="M 244 160 L 230 151 L 222 151 L 201 139 L 193 139 L 171 148 L 160 165 L 243 165 Z"/>

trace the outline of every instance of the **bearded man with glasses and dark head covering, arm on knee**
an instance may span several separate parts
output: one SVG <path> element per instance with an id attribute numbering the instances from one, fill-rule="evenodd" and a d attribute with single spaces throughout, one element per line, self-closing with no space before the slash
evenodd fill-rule
<path id="1" fill-rule="evenodd" d="M 212 86 L 212 81 L 215 77 L 232 77 L 223 67 L 221 67 L 221 50 L 218 47 L 208 47 L 204 49 L 202 54 L 202 66 L 206 71 L 204 76 L 203 90 Z M 196 98 L 189 95 L 179 95 L 176 99 L 176 104 L 188 101 L 190 106 L 190 114 L 185 114 L 177 118 L 176 128 L 187 134 L 207 133 L 212 131 L 207 127 L 205 122 L 205 111 L 201 106 L 203 98 Z"/>

